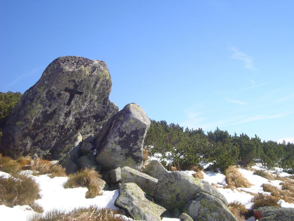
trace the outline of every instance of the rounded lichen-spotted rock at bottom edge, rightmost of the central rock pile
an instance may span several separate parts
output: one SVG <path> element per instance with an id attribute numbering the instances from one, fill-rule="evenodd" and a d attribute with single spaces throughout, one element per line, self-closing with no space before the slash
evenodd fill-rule
<path id="1" fill-rule="evenodd" d="M 185 205 L 184 211 L 193 220 L 238 221 L 221 200 L 202 192 Z"/>

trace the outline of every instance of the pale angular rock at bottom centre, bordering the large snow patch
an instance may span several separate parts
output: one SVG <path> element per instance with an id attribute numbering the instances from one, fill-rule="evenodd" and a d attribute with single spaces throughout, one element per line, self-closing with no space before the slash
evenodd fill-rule
<path id="1" fill-rule="evenodd" d="M 165 208 L 145 198 L 144 192 L 135 183 L 122 184 L 116 205 L 129 212 L 134 220 L 161 220 Z"/>

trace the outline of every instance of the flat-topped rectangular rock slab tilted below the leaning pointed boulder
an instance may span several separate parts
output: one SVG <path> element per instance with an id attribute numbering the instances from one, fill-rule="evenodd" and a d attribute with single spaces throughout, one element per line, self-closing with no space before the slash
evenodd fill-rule
<path id="1" fill-rule="evenodd" d="M 132 169 L 128 166 L 121 168 L 121 183 L 135 183 L 145 193 L 154 196 L 154 189 L 158 182 L 158 179 L 150 177 L 140 171 Z"/>

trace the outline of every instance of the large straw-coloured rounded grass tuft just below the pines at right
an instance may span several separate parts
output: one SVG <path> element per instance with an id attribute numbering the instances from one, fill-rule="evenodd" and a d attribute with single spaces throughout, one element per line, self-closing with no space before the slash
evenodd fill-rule
<path id="1" fill-rule="evenodd" d="M 230 166 L 225 170 L 225 181 L 228 186 L 238 187 L 250 187 L 252 184 L 243 176 L 242 173 L 236 168 L 236 166 Z"/>

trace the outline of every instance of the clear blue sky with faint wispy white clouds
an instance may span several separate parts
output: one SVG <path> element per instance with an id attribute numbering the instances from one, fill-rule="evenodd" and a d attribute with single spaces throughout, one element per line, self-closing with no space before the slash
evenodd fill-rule
<path id="1" fill-rule="evenodd" d="M 293 1 L 1 1 L 0 91 L 55 58 L 107 63 L 111 101 L 189 128 L 294 142 Z"/>

